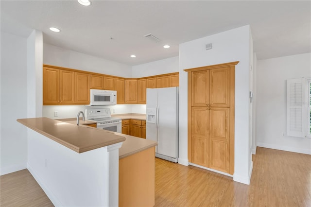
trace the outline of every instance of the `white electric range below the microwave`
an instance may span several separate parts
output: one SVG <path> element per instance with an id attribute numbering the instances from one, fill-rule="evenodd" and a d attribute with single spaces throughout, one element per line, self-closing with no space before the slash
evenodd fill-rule
<path id="1" fill-rule="evenodd" d="M 96 127 L 122 133 L 122 120 L 111 117 L 110 108 L 87 108 L 86 119 L 96 121 Z"/>

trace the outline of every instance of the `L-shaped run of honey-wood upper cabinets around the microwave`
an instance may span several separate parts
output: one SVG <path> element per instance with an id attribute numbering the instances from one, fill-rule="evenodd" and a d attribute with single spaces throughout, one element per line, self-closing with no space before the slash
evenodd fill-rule
<path id="1" fill-rule="evenodd" d="M 146 104 L 146 88 L 174 86 L 179 86 L 178 72 L 138 80 L 43 65 L 43 105 L 89 104 L 90 89 L 116 90 L 117 104 Z"/>

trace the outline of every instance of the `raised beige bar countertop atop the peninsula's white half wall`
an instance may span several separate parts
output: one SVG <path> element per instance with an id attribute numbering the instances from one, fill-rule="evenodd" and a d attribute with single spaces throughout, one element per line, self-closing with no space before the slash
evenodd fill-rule
<path id="1" fill-rule="evenodd" d="M 52 140 L 83 153 L 100 147 L 108 146 L 125 140 L 124 136 L 108 133 L 89 126 L 57 121 L 46 117 L 32 119 L 18 119 L 21 124 Z"/>

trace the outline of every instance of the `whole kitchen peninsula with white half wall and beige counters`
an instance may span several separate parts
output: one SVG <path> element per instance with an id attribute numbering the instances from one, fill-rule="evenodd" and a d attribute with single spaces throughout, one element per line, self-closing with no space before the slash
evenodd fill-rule
<path id="1" fill-rule="evenodd" d="M 27 168 L 55 206 L 155 205 L 155 141 L 69 120 L 17 121 L 29 128 Z"/>

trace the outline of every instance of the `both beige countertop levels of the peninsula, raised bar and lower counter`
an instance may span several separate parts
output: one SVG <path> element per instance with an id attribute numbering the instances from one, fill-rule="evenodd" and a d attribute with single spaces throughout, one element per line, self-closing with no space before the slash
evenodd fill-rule
<path id="1" fill-rule="evenodd" d="M 119 158 L 122 159 L 157 145 L 156 141 L 149 139 L 87 126 L 96 123 L 94 121 L 80 120 L 80 126 L 76 125 L 76 118 L 52 120 L 43 117 L 17 121 L 78 153 L 123 141 L 119 149 Z"/>

